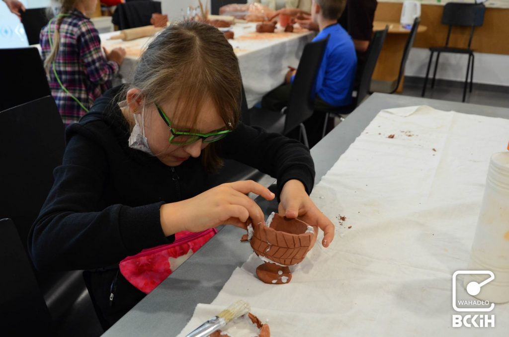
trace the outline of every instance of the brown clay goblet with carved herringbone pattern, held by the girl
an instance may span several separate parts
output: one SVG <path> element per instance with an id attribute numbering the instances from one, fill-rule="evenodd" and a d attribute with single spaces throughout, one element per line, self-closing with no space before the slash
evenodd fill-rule
<path id="1" fill-rule="evenodd" d="M 274 213 L 273 213 L 274 214 Z M 270 218 L 270 217 L 269 217 Z M 267 284 L 285 284 L 292 279 L 288 266 L 296 265 L 313 248 L 318 228 L 302 220 L 274 214 L 270 227 L 252 224 L 251 247 L 265 261 L 258 266 L 258 278 Z"/>

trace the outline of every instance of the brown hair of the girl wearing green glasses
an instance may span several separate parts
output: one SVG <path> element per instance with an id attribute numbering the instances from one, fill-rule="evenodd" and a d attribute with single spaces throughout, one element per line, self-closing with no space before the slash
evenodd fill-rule
<path id="1" fill-rule="evenodd" d="M 130 88 L 140 90 L 145 104 L 176 101 L 173 123 L 196 125 L 204 101 L 210 98 L 228 129 L 240 116 L 242 80 L 231 44 L 215 27 L 183 21 L 161 31 L 141 55 Z M 220 143 L 220 141 L 219 141 Z M 222 165 L 217 143 L 203 150 L 202 162 L 209 171 Z"/>

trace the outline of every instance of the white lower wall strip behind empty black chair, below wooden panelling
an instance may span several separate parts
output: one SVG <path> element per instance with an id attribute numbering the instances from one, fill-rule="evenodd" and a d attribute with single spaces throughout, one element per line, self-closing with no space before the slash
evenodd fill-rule
<path id="1" fill-rule="evenodd" d="M 498 86 L 509 86 L 509 55 L 476 53 L 474 64 L 474 82 Z M 430 51 L 425 48 L 412 48 L 405 67 L 407 76 L 426 76 Z M 433 56 L 435 60 L 436 54 Z M 468 56 L 461 54 L 441 54 L 438 63 L 437 78 L 464 81 Z M 433 75 L 435 62 L 430 69 Z"/>

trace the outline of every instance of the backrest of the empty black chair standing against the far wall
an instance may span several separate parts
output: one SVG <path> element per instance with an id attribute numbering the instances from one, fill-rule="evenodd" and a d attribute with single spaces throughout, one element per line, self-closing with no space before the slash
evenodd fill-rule
<path id="1" fill-rule="evenodd" d="M 470 37 L 468 39 L 468 48 L 470 48 L 475 27 L 483 25 L 485 12 L 486 7 L 484 4 L 445 4 L 442 14 L 442 24 L 449 25 L 445 46 L 447 47 L 449 45 L 450 32 L 453 30 L 453 26 L 468 26 L 471 27 Z"/>

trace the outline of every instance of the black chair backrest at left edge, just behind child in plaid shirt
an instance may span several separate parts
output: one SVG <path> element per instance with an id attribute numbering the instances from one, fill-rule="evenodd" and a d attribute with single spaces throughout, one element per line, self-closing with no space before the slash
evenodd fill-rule
<path id="1" fill-rule="evenodd" d="M 51 95 L 37 48 L 0 49 L 0 60 L 0 111 Z"/>

